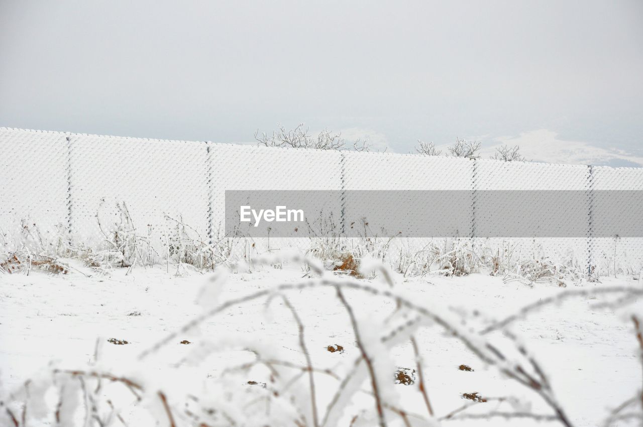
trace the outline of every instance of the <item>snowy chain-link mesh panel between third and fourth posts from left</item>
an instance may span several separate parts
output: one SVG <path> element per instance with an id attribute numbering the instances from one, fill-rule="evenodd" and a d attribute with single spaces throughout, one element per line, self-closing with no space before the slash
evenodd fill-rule
<path id="1" fill-rule="evenodd" d="M 350 190 L 455 190 L 471 192 L 473 190 L 472 166 L 467 159 L 416 156 L 412 154 L 362 153 L 347 152 L 343 154 L 344 188 L 347 190 L 344 230 L 351 233 L 357 230 L 367 240 L 370 251 L 376 256 L 392 255 L 392 262 L 397 263 L 400 271 L 413 268 L 424 268 L 427 264 L 450 262 L 452 255 L 470 257 L 473 254 L 471 239 L 471 219 L 473 205 L 467 204 L 456 223 L 467 224 L 466 228 L 451 228 L 449 239 L 431 237 L 395 237 L 398 230 L 381 230 L 378 224 L 403 222 L 397 218 L 399 212 L 404 215 L 422 215 L 431 210 L 431 201 L 421 203 L 412 211 L 404 209 L 383 210 L 372 208 L 377 201 L 359 200 L 359 197 L 372 197 L 368 192 L 350 192 Z M 387 192 L 393 205 L 405 206 L 413 203 L 404 191 Z M 354 234 L 354 233 L 351 233 Z M 411 230 L 413 234 L 413 230 Z M 356 241 L 357 239 L 353 239 Z M 359 242 L 354 242 L 358 244 Z M 444 259 L 440 259 L 443 257 Z M 471 260 L 473 261 L 473 260 Z M 463 260 L 462 262 L 469 262 Z"/>

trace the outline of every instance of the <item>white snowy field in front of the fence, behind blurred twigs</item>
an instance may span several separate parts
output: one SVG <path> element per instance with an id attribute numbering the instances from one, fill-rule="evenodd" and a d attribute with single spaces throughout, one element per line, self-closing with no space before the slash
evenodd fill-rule
<path id="1" fill-rule="evenodd" d="M 361 356 L 350 316 L 333 286 L 284 290 L 231 304 L 199 325 L 170 335 L 167 343 L 154 349 L 155 343 L 218 304 L 275 289 L 279 284 L 309 280 L 311 275 L 306 274 L 302 265 L 257 266 L 230 273 L 226 278 L 219 273 L 215 280 L 212 273 L 201 274 L 187 268 L 177 271 L 176 266 L 170 266 L 169 271 L 165 266 L 131 271 L 114 269 L 101 275 L 80 264 L 73 265 L 77 268 L 67 275 L 36 270 L 30 275 L 0 275 L 0 388 L 5 392 L 5 401 L 8 392 L 14 392 L 15 399 L 19 400 L 25 388 L 24 381 L 30 378 L 35 378 L 29 384 L 33 394 L 37 384 L 46 383 L 37 378 L 47 377 L 49 374 L 43 372 L 53 362 L 50 370 L 110 372 L 114 376 L 152 384 L 147 391 L 136 392 L 125 387 L 116 389 L 118 381 L 105 380 L 114 388 L 107 385 L 100 388 L 96 380 L 97 392 L 89 398 L 85 392 L 85 403 L 89 407 L 100 406 L 100 403 L 105 406 L 107 402 L 112 409 L 109 413 L 96 410 L 101 421 L 91 425 L 258 426 L 264 425 L 264 420 L 265 425 L 271 420 L 273 424 L 270 425 L 304 425 L 303 422 L 307 422 L 306 425 L 312 426 L 325 421 L 329 426 L 370 426 L 381 422 L 374 410 L 376 400 L 367 373 L 358 381 L 355 390 L 340 396 L 337 413 L 325 419 L 324 414 L 340 386 L 340 379 Z M 422 307 L 434 307 L 472 336 L 473 332 L 517 313 L 521 307 L 557 293 L 641 286 L 631 276 L 602 278 L 599 284 L 568 284 L 565 289 L 550 284 L 534 287 L 517 282 L 505 284 L 502 278 L 484 274 L 406 279 L 393 276 L 395 295 L 403 295 Z M 329 280 L 338 277 L 347 283 L 363 284 L 368 289 L 390 288 L 381 280 L 381 275 L 354 279 L 325 273 L 325 277 Z M 440 325 L 421 321 L 418 327 L 418 323 L 414 323 L 417 313 L 405 305 L 397 307 L 391 298 L 359 289 L 342 289 L 359 325 L 364 347 L 378 372 L 376 383 L 381 399 L 390 404 L 390 408 L 383 410 L 387 425 L 560 425 L 559 420 L 548 419 L 552 409 L 534 390 L 502 374 L 499 368 L 502 365 L 482 361 L 462 340 L 453 338 L 453 334 L 445 332 Z M 552 395 L 564 408 L 570 424 L 599 426 L 617 406 L 633 399 L 641 387 L 640 349 L 635 328 L 619 309 L 601 305 L 613 299 L 606 295 L 572 296 L 521 316 L 504 334 L 495 331 L 484 337 L 505 354 L 520 359 L 520 354 L 514 354 L 510 349 L 514 341 L 508 340 L 507 334 L 511 331 L 520 336 L 516 342 L 523 343 L 538 361 L 553 390 Z M 302 357 L 300 331 L 293 311 L 304 327 L 309 362 Z M 383 343 L 381 338 L 391 336 L 395 329 L 391 325 L 401 325 L 398 327 L 400 337 L 405 335 L 405 327 L 413 330 L 421 354 L 421 374 L 408 336 L 391 345 L 390 352 L 386 351 L 390 343 Z M 112 338 L 116 343 L 108 341 Z M 127 344 L 119 345 L 118 341 L 127 341 Z M 395 337 L 390 342 L 393 341 Z M 141 358 L 149 349 L 154 350 Z M 264 351 L 266 353 L 262 353 Z M 275 362 L 253 364 L 257 358 Z M 310 376 L 298 368 L 306 365 L 314 367 L 316 373 Z M 465 365 L 462 368 L 466 370 L 460 365 Z M 278 375 L 280 379 L 275 378 Z M 289 382 L 291 377 L 293 381 Z M 314 410 L 309 403 L 297 402 L 299 397 L 309 399 L 311 379 L 314 379 L 316 390 Z M 58 404 L 58 412 L 39 414 L 28 406 L 26 420 L 33 420 L 28 424 L 73 425 L 76 422 L 77 425 L 90 425 L 84 422 L 91 411 L 86 412 L 82 403 L 72 408 L 73 405 L 57 397 L 57 387 L 66 386 L 70 390 L 70 385 L 76 382 L 69 380 L 60 385 L 60 378 L 57 381 L 44 400 L 53 408 Z M 93 389 L 91 379 L 86 381 L 87 384 L 82 383 L 82 390 L 86 390 L 85 386 Z M 212 385 L 208 385 L 208 381 L 212 381 Z M 435 415 L 433 418 L 428 417 L 426 402 L 419 391 L 422 381 Z M 238 392 L 226 394 L 221 390 L 221 384 Z M 274 392 L 278 387 L 281 387 L 279 395 Z M 169 419 L 158 399 L 156 403 L 152 402 L 154 396 L 150 394 L 150 388 L 167 390 L 167 400 L 172 408 Z M 66 392 L 67 398 L 82 401 L 80 388 L 71 390 L 75 391 Z M 273 392 L 266 397 L 266 390 Z M 78 395 L 74 397 L 73 394 Z M 140 401 L 134 397 L 138 394 L 142 395 Z M 221 401 L 226 401 L 227 412 L 221 409 L 225 415 L 219 418 L 210 413 L 212 421 L 208 422 L 203 421 L 207 414 L 197 414 L 201 417 L 197 421 L 195 411 L 187 409 L 188 404 L 194 402 L 181 401 L 182 396 L 191 394 L 201 395 L 201 403 L 206 399 L 218 399 L 216 404 L 220 405 Z M 467 399 L 463 394 L 469 394 L 475 400 Z M 285 402 L 280 403 L 280 399 Z M 479 399 L 485 401 L 478 402 Z M 30 402 L 35 405 L 35 400 L 33 395 L 26 397 L 28 405 Z M 66 405 L 71 409 L 64 414 Z M 626 412 L 640 410 L 637 405 Z M 300 415 L 292 408 L 303 408 L 302 416 L 307 421 L 293 421 Z M 23 407 L 17 404 L 12 407 L 15 422 L 22 422 L 22 410 Z M 120 412 L 118 417 L 116 412 Z M 289 413 L 293 415 L 289 417 Z M 486 413 L 495 415 L 487 419 L 478 417 Z M 503 413 L 543 414 L 545 419 L 505 418 Z M 55 415 L 66 417 L 68 424 L 60 419 L 57 424 Z M 3 426 L 11 426 L 14 422 L 5 413 L 0 415 L 0 421 Z M 608 425 L 638 425 L 636 422 L 640 421 L 630 418 Z"/>

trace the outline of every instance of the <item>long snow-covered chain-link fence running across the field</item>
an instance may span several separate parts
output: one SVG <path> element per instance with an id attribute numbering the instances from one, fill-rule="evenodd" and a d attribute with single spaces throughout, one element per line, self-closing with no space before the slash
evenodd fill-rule
<path id="1" fill-rule="evenodd" d="M 471 227 L 454 237 L 471 245 L 491 251 L 507 251 L 511 245 L 511 251 L 535 257 L 566 257 L 587 273 L 638 273 L 643 266 L 642 238 L 596 237 L 603 234 L 592 217 L 593 192 L 643 190 L 643 168 L 277 149 L 9 128 L 0 128 L 0 147 L 3 251 L 29 244 L 48 251 L 60 244 L 96 248 L 105 233 L 123 221 L 145 235 L 152 248 L 172 246 L 168 230 L 212 244 L 223 235 L 225 190 L 466 190 L 471 192 Z M 586 235 L 479 237 L 476 217 L 493 215 L 476 211 L 482 190 L 586 192 Z M 343 228 L 349 226 L 345 217 L 356 204 L 352 202 L 343 196 L 338 201 L 334 217 Z M 533 206 L 497 208 L 529 213 Z M 623 199 L 616 208 L 631 212 L 631 221 L 640 221 L 642 206 Z M 301 239 L 288 244 L 301 244 L 296 240 Z M 430 239 L 406 239 L 404 244 L 421 247 L 426 240 Z"/>

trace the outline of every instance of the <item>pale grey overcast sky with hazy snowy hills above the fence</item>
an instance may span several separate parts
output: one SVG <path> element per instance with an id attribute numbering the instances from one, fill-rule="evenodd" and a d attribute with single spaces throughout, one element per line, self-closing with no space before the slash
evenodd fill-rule
<path id="1" fill-rule="evenodd" d="M 643 1 L 0 0 L 0 126 L 643 165 Z"/>

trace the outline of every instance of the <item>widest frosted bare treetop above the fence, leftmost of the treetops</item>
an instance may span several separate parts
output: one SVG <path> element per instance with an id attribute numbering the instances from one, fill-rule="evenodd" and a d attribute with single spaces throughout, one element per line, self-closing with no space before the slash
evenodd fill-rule
<path id="1" fill-rule="evenodd" d="M 266 147 L 368 151 L 367 141 L 356 140 L 353 142 L 352 147 L 347 148 L 346 141 L 344 138 L 341 138 L 341 132 L 335 133 L 324 129 L 319 132 L 317 136 L 313 136 L 310 134 L 308 128 L 304 129 L 304 123 L 299 123 L 299 125 L 292 130 L 287 130 L 284 126 L 279 125 L 279 129 L 273 131 L 271 135 L 262 132 L 261 136 L 259 136 L 259 131 L 257 131 L 255 132 L 255 140 L 257 140 L 259 145 L 265 145 Z"/>

